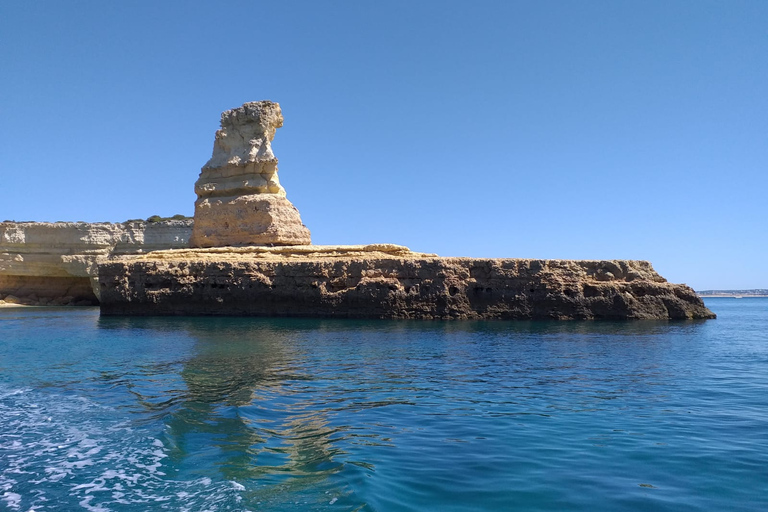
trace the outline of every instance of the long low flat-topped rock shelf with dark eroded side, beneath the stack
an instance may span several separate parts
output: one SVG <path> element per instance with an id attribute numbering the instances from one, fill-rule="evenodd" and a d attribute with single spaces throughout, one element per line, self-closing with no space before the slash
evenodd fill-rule
<path id="1" fill-rule="evenodd" d="M 389 247 L 390 249 L 387 249 Z M 359 248 L 169 251 L 100 266 L 105 315 L 418 319 L 714 318 L 645 261 L 438 258 Z M 401 248 L 404 249 L 404 248 Z"/>

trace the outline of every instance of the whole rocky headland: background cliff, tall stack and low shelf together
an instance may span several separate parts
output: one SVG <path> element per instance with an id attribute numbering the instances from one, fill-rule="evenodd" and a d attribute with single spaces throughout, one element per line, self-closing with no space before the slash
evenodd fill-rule
<path id="1" fill-rule="evenodd" d="M 30 302 L 98 303 L 102 315 L 715 317 L 691 288 L 667 282 L 646 261 L 443 258 L 394 244 L 312 245 L 278 179 L 271 142 L 282 125 L 280 106 L 270 101 L 222 114 L 195 184 L 194 222 L 0 224 L 0 298 L 12 291 Z M 58 241 L 62 233 L 68 241 Z"/>

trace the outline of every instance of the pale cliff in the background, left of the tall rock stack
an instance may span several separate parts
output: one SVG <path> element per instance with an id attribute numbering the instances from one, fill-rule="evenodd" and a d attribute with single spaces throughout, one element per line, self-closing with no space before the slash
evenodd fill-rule
<path id="1" fill-rule="evenodd" d="M 0 222 L 0 300 L 95 304 L 97 265 L 115 255 L 185 247 L 192 221 Z"/>

